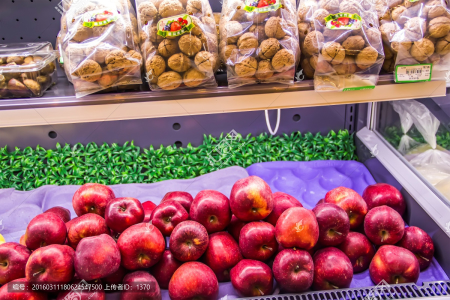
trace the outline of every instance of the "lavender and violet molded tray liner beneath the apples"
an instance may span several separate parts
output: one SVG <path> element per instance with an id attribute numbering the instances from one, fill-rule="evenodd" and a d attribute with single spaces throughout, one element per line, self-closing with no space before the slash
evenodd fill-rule
<path id="1" fill-rule="evenodd" d="M 304 207 L 312 208 L 325 196 L 325 193 L 337 186 L 346 186 L 362 193 L 368 184 L 375 183 L 365 166 L 356 161 L 273 161 L 255 163 L 244 168 L 233 166 L 192 179 L 173 179 L 156 183 L 132 183 L 110 185 L 117 197 L 135 197 L 144 202 L 151 200 L 159 203 L 163 195 L 170 190 L 185 190 L 195 195 L 202 189 L 216 189 L 229 195 L 233 183 L 240 178 L 257 175 L 270 185 L 272 192 L 283 191 L 296 197 Z M 6 241 L 17 241 L 24 233 L 26 225 L 35 215 L 52 206 L 63 206 L 75 213 L 71 199 L 78 185 L 45 185 L 29 191 L 17 191 L 13 188 L 0 189 L 0 233 Z M 418 284 L 422 281 L 448 279 L 445 272 L 433 260 L 430 267 L 420 273 Z M 350 287 L 374 285 L 368 271 L 354 274 Z M 167 290 L 162 290 L 162 299 L 169 300 Z M 274 294 L 279 293 L 278 288 Z M 230 282 L 219 284 L 219 298 L 238 297 Z M 108 300 L 119 299 L 118 293 L 108 293 Z"/>

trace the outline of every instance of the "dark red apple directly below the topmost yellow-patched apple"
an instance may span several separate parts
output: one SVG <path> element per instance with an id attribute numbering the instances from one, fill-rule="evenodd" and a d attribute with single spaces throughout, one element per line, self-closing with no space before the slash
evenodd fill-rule
<path id="1" fill-rule="evenodd" d="M 269 259 L 278 248 L 275 227 L 267 222 L 249 222 L 240 230 L 239 248 L 245 258 Z"/>

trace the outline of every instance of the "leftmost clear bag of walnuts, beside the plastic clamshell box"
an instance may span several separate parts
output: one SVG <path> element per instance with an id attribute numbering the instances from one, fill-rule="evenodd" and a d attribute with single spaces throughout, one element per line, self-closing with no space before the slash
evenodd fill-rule
<path id="1" fill-rule="evenodd" d="M 128 0 L 71 2 L 61 17 L 60 46 L 76 97 L 142 83 L 137 32 Z"/>

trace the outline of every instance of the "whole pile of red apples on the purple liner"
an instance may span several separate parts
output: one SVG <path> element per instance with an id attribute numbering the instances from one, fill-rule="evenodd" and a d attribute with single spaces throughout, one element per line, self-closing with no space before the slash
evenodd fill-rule
<path id="1" fill-rule="evenodd" d="M 229 198 L 171 191 L 159 205 L 86 183 L 72 204 L 75 218 L 50 208 L 31 219 L 20 243 L 0 245 L 0 299 L 69 292 L 7 292 L 9 281 L 155 282 L 154 290 L 122 291 L 122 300 L 160 300 L 161 288 L 172 300 L 215 300 L 224 281 L 245 297 L 271 294 L 274 280 L 281 292 L 346 288 L 367 268 L 374 284 L 416 282 L 434 252 L 425 231 L 405 227 L 405 201 L 386 183 L 362 196 L 334 188 L 312 210 L 257 176 L 237 180 Z M 81 299 L 105 299 L 105 290 Z"/>

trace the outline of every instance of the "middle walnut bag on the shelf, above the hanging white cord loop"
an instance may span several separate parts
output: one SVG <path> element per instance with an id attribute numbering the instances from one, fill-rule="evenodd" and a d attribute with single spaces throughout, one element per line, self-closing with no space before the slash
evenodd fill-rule
<path id="1" fill-rule="evenodd" d="M 300 48 L 291 0 L 225 0 L 219 23 L 220 58 L 228 87 L 292 84 Z"/>

